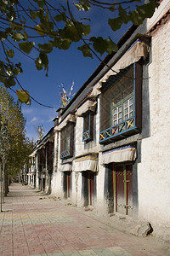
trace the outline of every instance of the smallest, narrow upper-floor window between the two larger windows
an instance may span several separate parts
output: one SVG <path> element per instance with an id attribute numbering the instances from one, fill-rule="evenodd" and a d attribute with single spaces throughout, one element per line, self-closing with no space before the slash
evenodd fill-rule
<path id="1" fill-rule="evenodd" d="M 93 140 L 94 135 L 94 113 L 91 111 L 83 115 L 82 142 Z"/>

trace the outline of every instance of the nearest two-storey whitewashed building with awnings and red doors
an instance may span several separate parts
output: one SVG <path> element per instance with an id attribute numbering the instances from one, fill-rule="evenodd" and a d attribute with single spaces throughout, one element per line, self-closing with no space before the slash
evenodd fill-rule
<path id="1" fill-rule="evenodd" d="M 52 195 L 150 222 L 170 237 L 170 2 L 132 26 L 116 54 L 54 119 Z M 105 63 L 105 65 L 104 65 Z M 109 68 L 111 67 L 111 68 Z"/>

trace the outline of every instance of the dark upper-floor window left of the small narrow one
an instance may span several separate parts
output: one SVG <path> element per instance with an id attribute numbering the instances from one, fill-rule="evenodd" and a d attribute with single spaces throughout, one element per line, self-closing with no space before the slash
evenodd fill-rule
<path id="1" fill-rule="evenodd" d="M 61 130 L 60 133 L 60 158 L 65 159 L 73 155 L 74 142 L 74 123 L 68 124 Z"/>

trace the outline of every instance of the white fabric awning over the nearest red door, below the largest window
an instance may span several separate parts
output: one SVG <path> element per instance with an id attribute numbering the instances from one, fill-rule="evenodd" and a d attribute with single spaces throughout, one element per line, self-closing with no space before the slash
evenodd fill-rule
<path id="1" fill-rule="evenodd" d="M 102 152 L 100 165 L 106 165 L 112 162 L 121 163 L 126 161 L 133 161 L 135 159 L 136 148 L 134 148 L 132 145 L 129 145 Z"/>

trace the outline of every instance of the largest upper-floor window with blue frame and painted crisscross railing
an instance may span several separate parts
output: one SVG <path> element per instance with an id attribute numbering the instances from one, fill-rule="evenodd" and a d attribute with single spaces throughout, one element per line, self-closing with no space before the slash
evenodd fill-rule
<path id="1" fill-rule="evenodd" d="M 137 79 L 138 77 L 138 79 Z M 141 129 L 142 65 L 135 63 L 103 83 L 99 143 L 127 137 Z"/>

